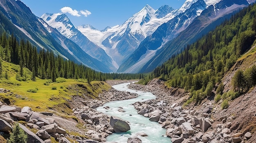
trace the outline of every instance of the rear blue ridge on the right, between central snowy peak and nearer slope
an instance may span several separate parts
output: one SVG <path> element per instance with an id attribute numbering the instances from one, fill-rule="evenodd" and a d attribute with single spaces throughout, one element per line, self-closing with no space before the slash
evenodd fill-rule
<path id="1" fill-rule="evenodd" d="M 140 43 L 136 51 L 122 64 L 117 72 L 119 73 L 137 73 L 143 63 L 147 62 L 155 52 L 157 48 L 161 48 L 162 44 L 166 41 L 173 39 L 180 31 L 186 29 L 186 27 L 200 15 L 207 5 L 204 0 L 198 0 L 191 4 L 189 9 L 186 9 L 184 13 L 180 13 L 173 19 L 162 24 L 157 30 L 150 36 L 148 36 L 143 42 Z M 184 9 L 183 7 L 181 9 Z M 144 57 L 147 57 L 146 59 Z"/>

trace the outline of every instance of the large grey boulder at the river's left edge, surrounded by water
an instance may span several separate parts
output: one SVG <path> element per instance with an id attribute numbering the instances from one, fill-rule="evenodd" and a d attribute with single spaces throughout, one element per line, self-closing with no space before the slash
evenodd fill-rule
<path id="1" fill-rule="evenodd" d="M 130 130 L 130 125 L 126 121 L 115 116 L 110 117 L 110 126 L 113 127 L 114 131 L 117 133 Z"/>

